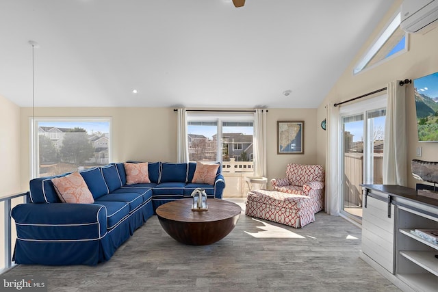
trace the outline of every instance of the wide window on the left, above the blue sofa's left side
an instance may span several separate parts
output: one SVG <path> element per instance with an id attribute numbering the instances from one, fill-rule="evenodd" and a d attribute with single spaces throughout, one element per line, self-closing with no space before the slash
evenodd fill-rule
<path id="1" fill-rule="evenodd" d="M 53 176 L 110 163 L 110 118 L 36 118 L 31 176 Z"/>

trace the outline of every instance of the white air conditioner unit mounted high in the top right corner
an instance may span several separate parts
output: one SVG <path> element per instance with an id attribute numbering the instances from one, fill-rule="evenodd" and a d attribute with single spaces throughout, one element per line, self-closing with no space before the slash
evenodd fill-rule
<path id="1" fill-rule="evenodd" d="M 401 6 L 400 28 L 424 34 L 438 25 L 438 0 L 404 0 Z"/>

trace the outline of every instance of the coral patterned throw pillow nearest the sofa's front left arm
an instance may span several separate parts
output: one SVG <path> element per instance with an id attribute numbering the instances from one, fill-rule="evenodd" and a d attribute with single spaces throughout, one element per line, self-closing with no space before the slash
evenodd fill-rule
<path id="1" fill-rule="evenodd" d="M 79 172 L 52 178 L 57 196 L 63 203 L 92 204 L 94 198 Z"/>

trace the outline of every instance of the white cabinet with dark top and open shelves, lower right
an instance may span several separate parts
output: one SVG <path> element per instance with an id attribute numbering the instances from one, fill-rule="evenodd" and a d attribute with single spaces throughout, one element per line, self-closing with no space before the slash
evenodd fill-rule
<path id="1" fill-rule="evenodd" d="M 361 258 L 402 291 L 438 291 L 438 245 L 411 233 L 438 229 L 438 200 L 398 185 L 365 187 Z"/>

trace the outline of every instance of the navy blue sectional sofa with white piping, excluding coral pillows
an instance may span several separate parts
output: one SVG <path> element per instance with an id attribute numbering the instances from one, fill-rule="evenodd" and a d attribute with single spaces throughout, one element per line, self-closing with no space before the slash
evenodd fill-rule
<path id="1" fill-rule="evenodd" d="M 151 183 L 127 185 L 123 163 L 79 172 L 94 198 L 93 204 L 62 203 L 50 176 L 29 183 L 27 203 L 12 209 L 17 239 L 15 263 L 96 265 L 142 226 L 160 204 L 190 198 L 197 187 L 208 198 L 222 198 L 221 168 L 214 185 L 192 183 L 196 163 L 149 163 Z"/>

